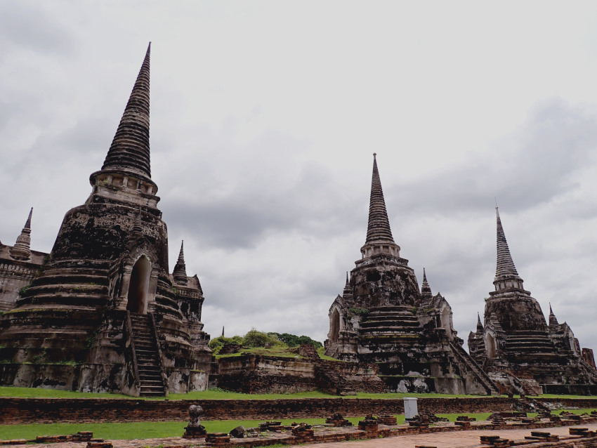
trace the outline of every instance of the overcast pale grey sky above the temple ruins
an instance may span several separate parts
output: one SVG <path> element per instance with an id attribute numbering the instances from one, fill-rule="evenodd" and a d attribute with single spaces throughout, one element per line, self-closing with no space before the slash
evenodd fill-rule
<path id="1" fill-rule="evenodd" d="M 467 338 L 514 263 L 597 349 L 594 1 L 0 1 L 0 240 L 50 251 L 151 53 L 152 179 L 212 336 L 327 337 L 372 152 L 401 255 Z"/>

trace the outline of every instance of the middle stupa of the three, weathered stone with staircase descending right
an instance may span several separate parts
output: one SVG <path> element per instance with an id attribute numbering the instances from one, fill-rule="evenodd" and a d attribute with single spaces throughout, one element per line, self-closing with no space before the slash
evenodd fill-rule
<path id="1" fill-rule="evenodd" d="M 394 242 L 374 154 L 369 224 L 362 258 L 329 308 L 326 355 L 374 363 L 392 392 L 497 394 L 462 348 L 452 309 L 422 290 Z"/>

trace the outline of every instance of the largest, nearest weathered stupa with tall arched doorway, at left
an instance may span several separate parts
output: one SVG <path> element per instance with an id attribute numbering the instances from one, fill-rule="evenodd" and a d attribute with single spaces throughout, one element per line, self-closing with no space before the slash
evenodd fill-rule
<path id="1" fill-rule="evenodd" d="M 0 244 L 0 383 L 129 395 L 207 387 L 203 291 L 168 233 L 150 173 L 150 48 L 91 195 L 68 211 L 51 253 L 31 218 Z"/>

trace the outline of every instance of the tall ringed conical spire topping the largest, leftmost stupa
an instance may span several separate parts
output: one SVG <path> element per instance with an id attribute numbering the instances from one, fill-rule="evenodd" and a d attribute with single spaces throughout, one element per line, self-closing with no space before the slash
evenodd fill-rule
<path id="1" fill-rule="evenodd" d="M 129 171 L 151 178 L 150 169 L 150 48 L 107 152 L 104 170 Z"/>

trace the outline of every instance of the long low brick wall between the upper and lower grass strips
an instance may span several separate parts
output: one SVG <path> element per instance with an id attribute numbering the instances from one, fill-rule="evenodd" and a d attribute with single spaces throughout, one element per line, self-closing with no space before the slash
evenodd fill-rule
<path id="1" fill-rule="evenodd" d="M 545 400 L 543 400 L 545 401 Z M 578 400 L 570 400 L 577 402 Z M 509 411 L 515 400 L 503 397 L 420 398 L 419 411 L 435 414 Z M 0 397 L 0 424 L 102 421 L 186 421 L 191 404 L 200 404 L 206 420 L 324 418 L 332 414 L 402 414 L 404 401 L 369 399 L 297 400 L 110 400 Z M 582 407 L 596 407 L 584 404 Z M 576 404 L 570 404 L 576 405 Z"/>

